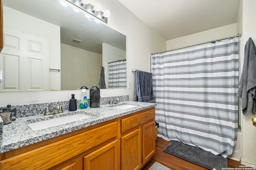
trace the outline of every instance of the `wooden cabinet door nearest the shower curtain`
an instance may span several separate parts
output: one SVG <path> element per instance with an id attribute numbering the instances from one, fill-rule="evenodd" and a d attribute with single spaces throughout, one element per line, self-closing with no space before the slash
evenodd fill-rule
<path id="1" fill-rule="evenodd" d="M 142 163 L 145 164 L 150 160 L 156 151 L 155 140 L 155 121 L 142 126 Z"/>

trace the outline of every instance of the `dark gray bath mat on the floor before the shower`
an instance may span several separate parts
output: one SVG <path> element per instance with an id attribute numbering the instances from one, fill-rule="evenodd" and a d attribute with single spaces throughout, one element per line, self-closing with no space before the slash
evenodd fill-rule
<path id="1" fill-rule="evenodd" d="M 228 168 L 228 159 L 221 155 L 214 155 L 211 152 L 207 152 L 198 147 L 192 147 L 178 141 L 171 141 L 165 148 L 164 152 L 188 160 L 194 164 L 203 166 L 213 170 L 221 170 L 222 168 Z"/>

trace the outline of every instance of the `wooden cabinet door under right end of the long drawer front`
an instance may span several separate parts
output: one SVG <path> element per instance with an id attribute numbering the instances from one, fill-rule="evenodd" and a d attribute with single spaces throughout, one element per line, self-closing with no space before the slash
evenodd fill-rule
<path id="1" fill-rule="evenodd" d="M 118 141 L 84 156 L 85 170 L 118 170 Z"/>

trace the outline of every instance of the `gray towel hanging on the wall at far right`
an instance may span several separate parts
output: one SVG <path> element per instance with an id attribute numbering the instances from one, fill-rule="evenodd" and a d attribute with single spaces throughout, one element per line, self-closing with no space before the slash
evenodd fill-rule
<path id="1" fill-rule="evenodd" d="M 252 38 L 249 38 L 244 47 L 244 66 L 237 91 L 241 98 L 242 112 L 247 117 L 256 113 L 256 47 Z"/>

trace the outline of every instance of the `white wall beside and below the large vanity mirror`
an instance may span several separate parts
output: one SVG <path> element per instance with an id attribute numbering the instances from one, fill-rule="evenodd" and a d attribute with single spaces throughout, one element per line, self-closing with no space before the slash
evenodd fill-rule
<path id="1" fill-rule="evenodd" d="M 101 4 L 102 10 L 108 9 L 111 13 L 108 18 L 108 26 L 126 35 L 127 81 L 132 82 L 132 89 L 102 89 L 100 90 L 100 95 L 102 97 L 129 95 L 130 100 L 133 100 L 134 73 L 132 69 L 150 71 L 150 54 L 155 51 L 165 50 L 166 40 L 155 31 L 152 31 L 118 0 L 97 0 L 97 2 Z M 60 49 L 60 47 L 58 48 Z M 60 82 L 60 80 L 56 81 Z M 3 92 L 0 93 L 0 106 L 65 101 L 70 99 L 72 93 L 74 93 L 72 90 L 24 93 Z"/>

